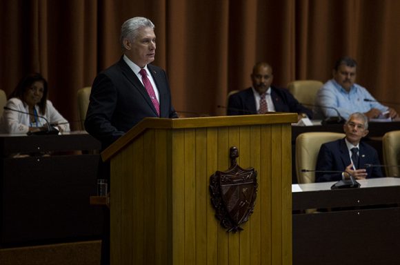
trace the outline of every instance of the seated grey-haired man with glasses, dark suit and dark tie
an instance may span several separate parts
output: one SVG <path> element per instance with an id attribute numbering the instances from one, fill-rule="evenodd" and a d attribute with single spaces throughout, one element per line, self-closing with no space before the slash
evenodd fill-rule
<path id="1" fill-rule="evenodd" d="M 319 150 L 316 170 L 341 171 L 342 173 L 316 173 L 315 180 L 339 181 L 383 177 L 380 167 L 366 167 L 366 164 L 379 165 L 377 150 L 363 143 L 362 137 L 368 135 L 368 118 L 355 112 L 343 125 L 346 137 L 323 144 Z"/>

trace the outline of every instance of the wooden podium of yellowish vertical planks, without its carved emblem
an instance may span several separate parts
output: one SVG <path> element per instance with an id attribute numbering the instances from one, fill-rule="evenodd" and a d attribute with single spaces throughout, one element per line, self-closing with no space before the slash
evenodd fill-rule
<path id="1" fill-rule="evenodd" d="M 101 153 L 110 160 L 111 264 L 292 264 L 291 126 L 296 114 L 143 119 Z M 228 233 L 210 176 L 257 170 L 254 213 Z"/>

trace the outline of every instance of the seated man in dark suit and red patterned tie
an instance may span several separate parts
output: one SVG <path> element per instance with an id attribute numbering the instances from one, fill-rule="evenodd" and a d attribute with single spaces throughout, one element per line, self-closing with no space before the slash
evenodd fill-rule
<path id="1" fill-rule="evenodd" d="M 253 67 L 252 87 L 229 97 L 228 115 L 265 114 L 266 112 L 296 112 L 300 120 L 312 118 L 312 110 L 299 104 L 286 89 L 271 86 L 272 67 L 259 62 Z"/>

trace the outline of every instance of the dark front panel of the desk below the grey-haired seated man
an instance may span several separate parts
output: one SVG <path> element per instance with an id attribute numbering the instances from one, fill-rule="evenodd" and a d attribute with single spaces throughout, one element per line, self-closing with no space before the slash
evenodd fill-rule
<path id="1" fill-rule="evenodd" d="M 293 215 L 293 264 L 399 264 L 400 209 Z"/>

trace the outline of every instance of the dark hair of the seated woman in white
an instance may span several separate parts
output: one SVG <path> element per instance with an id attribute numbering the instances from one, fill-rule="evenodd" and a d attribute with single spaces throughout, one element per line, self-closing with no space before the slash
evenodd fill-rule
<path id="1" fill-rule="evenodd" d="M 39 72 L 26 75 L 23 79 L 19 80 L 17 87 L 12 91 L 11 97 L 17 97 L 23 101 L 23 94 L 25 94 L 26 90 L 30 89 L 34 82 L 41 81 L 43 83 L 43 97 L 41 98 L 39 104 L 39 112 L 41 115 L 46 113 L 46 102 L 47 102 L 47 95 L 48 95 L 48 84 L 46 79 L 39 74 Z M 24 102 L 25 104 L 25 102 Z"/>

